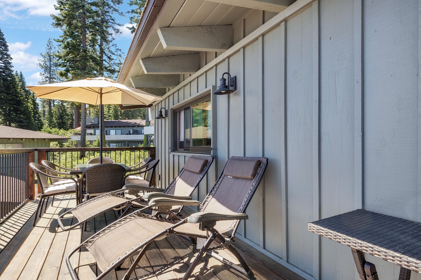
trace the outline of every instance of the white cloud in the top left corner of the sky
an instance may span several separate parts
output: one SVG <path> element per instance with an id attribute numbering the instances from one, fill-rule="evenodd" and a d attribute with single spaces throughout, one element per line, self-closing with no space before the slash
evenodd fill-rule
<path id="1" fill-rule="evenodd" d="M 49 16 L 56 13 L 56 0 L 0 0 L 1 17 L 14 17 L 18 11 L 26 11 L 31 16 Z"/>

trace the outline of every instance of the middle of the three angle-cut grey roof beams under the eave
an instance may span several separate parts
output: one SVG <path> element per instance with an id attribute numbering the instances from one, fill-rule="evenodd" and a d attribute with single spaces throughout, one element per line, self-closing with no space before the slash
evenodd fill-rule
<path id="1" fill-rule="evenodd" d="M 142 58 L 140 60 L 146 74 L 189 74 L 200 69 L 200 55 L 163 56 L 160 58 Z"/>

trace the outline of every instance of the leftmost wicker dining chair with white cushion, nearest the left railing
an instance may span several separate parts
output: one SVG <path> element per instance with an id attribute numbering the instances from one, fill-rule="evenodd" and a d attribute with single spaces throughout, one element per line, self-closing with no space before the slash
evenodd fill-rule
<path id="1" fill-rule="evenodd" d="M 44 212 L 47 210 L 48 199 L 50 198 L 50 196 L 54 197 L 61 194 L 76 194 L 76 204 L 79 204 L 78 193 L 77 193 L 78 191 L 77 179 L 72 178 L 72 177 L 59 177 L 56 175 L 52 175 L 52 173 L 49 172 L 47 168 L 35 162 L 30 162 L 29 167 L 31 167 L 32 170 L 34 171 L 41 187 L 41 193 L 39 194 L 40 201 L 38 202 L 37 209 L 35 210 L 34 226 L 37 222 L 38 213 L 39 213 L 39 216 L 41 217 L 44 203 L 45 203 Z M 53 184 L 51 182 L 51 179 L 69 180 L 69 183 Z M 50 183 L 48 183 L 49 180 L 50 180 Z"/>

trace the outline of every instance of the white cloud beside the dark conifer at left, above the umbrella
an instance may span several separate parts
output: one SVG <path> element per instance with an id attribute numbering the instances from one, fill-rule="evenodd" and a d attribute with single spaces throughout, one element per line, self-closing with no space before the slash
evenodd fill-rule
<path id="1" fill-rule="evenodd" d="M 31 44 L 31 41 L 27 43 L 15 42 L 8 44 L 10 55 L 13 58 L 13 67 L 16 71 L 33 71 L 38 68 L 38 58 L 40 56 L 24 52 Z"/>

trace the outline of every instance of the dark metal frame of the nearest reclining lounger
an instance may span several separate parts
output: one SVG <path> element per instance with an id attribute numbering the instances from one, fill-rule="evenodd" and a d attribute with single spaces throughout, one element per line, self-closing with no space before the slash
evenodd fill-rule
<path id="1" fill-rule="evenodd" d="M 248 207 L 248 204 L 250 204 L 251 198 L 256 193 L 256 189 L 257 189 L 259 183 L 261 182 L 261 179 L 263 178 L 263 175 L 264 175 L 264 171 L 266 170 L 266 167 L 267 167 L 268 159 L 267 158 L 265 158 L 265 159 L 266 160 L 264 162 L 261 162 L 258 169 L 256 170 L 256 175 L 255 175 L 255 177 L 253 178 L 253 181 L 250 184 L 250 189 L 248 190 L 248 194 L 245 196 L 245 198 L 243 200 L 243 203 L 242 203 L 242 206 L 240 207 L 239 211 L 237 212 L 239 214 L 244 214 L 245 210 Z M 226 164 L 225 164 L 225 166 L 226 166 Z M 224 167 L 224 169 L 225 169 L 225 167 Z M 200 211 L 199 212 L 201 212 L 202 210 L 205 209 L 207 203 L 210 201 L 213 194 L 215 194 L 215 192 L 217 191 L 218 186 L 221 183 L 221 179 L 223 177 L 224 177 L 224 174 L 223 174 L 223 172 L 221 172 L 221 175 L 219 175 L 218 180 L 216 181 L 215 185 L 210 190 L 208 196 L 206 196 L 206 199 L 200 205 Z M 75 252 L 79 251 L 82 247 L 89 246 L 99 236 L 102 236 L 102 235 L 106 234 L 109 230 L 112 230 L 113 228 L 117 227 L 120 223 L 124 223 L 124 222 L 126 222 L 128 220 L 131 220 L 131 219 L 134 219 L 136 217 L 147 217 L 147 218 L 150 218 L 150 219 L 175 222 L 174 220 L 143 214 L 143 213 L 141 213 L 142 210 L 143 209 L 140 209 L 136 212 L 133 212 L 131 215 L 128 215 L 126 217 L 118 219 L 114 223 L 108 225 L 107 227 L 105 227 L 101 231 L 99 231 L 98 233 L 96 233 L 93 236 L 91 236 L 90 238 L 88 238 L 85 242 L 83 242 L 82 244 L 77 246 L 77 248 L 72 250 L 72 252 L 70 252 L 70 254 L 66 258 L 67 268 L 69 269 L 70 276 L 72 277 L 72 279 L 75 280 L 75 279 L 78 279 L 78 278 L 77 278 L 77 275 L 75 273 L 75 270 L 73 269 L 73 267 L 70 263 L 70 257 Z M 176 224 L 171 225 L 168 228 L 165 228 L 164 230 L 160 231 L 159 233 L 156 233 L 154 236 L 151 236 L 146 241 L 143 241 L 142 243 L 139 243 L 139 245 L 134 247 L 133 249 L 131 249 L 131 251 L 128 251 L 123 256 L 120 256 L 120 259 L 118 259 L 116 262 L 110 264 L 110 266 L 106 270 L 104 270 L 100 275 L 98 275 L 95 278 L 95 280 L 100 280 L 100 279 L 104 278 L 109 272 L 111 272 L 112 270 L 120 267 L 123 264 L 123 262 L 125 261 L 125 259 L 127 259 L 129 256 L 135 254 L 137 251 L 140 250 L 139 254 L 136 256 L 136 259 L 134 259 L 133 263 L 131 264 L 128 272 L 126 272 L 126 274 L 123 277 L 123 280 L 128 280 L 130 278 L 130 275 L 135 270 L 135 268 L 136 268 L 137 264 L 139 263 L 140 259 L 142 258 L 142 256 L 144 256 L 148 247 L 152 244 L 153 241 L 163 239 L 169 234 L 183 235 L 183 236 L 186 235 L 186 233 L 177 232 L 176 228 L 179 225 L 182 225 L 182 224 L 188 222 L 188 219 L 189 218 L 185 218 L 185 219 L 177 222 Z M 241 217 L 239 219 L 248 219 L 248 217 L 247 217 L 247 215 L 244 215 L 243 217 Z M 234 242 L 235 233 L 237 232 L 240 220 L 234 220 L 234 222 L 233 222 L 234 226 L 232 226 L 232 233 L 228 237 L 224 237 L 221 233 L 218 232 L 218 230 L 213 228 L 212 222 L 216 222 L 216 221 L 208 222 L 208 227 L 204 228 L 206 230 L 208 238 L 205 242 L 205 245 L 202 247 L 200 252 L 197 254 L 195 260 L 189 266 L 189 269 L 187 270 L 186 274 L 184 275 L 183 280 L 187 280 L 192 275 L 192 272 L 194 271 L 195 267 L 200 262 L 200 259 L 202 259 L 203 255 L 205 253 L 207 253 L 210 256 L 218 259 L 220 262 L 224 263 L 225 265 L 227 265 L 229 267 L 232 267 L 234 270 L 242 273 L 243 275 L 249 277 L 250 279 L 253 278 L 254 273 L 250 270 L 250 267 L 248 267 L 245 260 L 242 258 L 242 256 L 238 253 L 238 251 L 231 244 L 232 242 Z M 204 227 L 204 225 L 202 225 L 202 224 L 203 223 L 200 224 L 200 228 Z M 203 238 L 203 236 L 199 236 L 199 235 L 195 235 L 195 234 L 189 234 L 189 236 L 190 237 Z M 218 240 L 221 243 L 221 245 L 216 246 L 214 248 L 209 248 L 210 244 L 215 239 Z M 221 247 L 224 247 L 224 248 L 228 249 L 229 251 L 231 251 L 234 254 L 234 256 L 236 256 L 237 260 L 240 262 L 241 267 L 236 265 L 236 264 L 232 264 L 228 260 L 222 258 L 221 256 L 218 256 L 217 254 L 215 254 L 213 252 L 214 250 L 220 249 Z"/>

